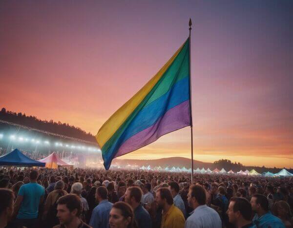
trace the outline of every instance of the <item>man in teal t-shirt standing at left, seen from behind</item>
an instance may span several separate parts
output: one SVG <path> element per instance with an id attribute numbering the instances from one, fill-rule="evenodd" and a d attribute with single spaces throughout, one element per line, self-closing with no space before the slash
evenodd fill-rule
<path id="1" fill-rule="evenodd" d="M 34 228 L 37 224 L 39 206 L 43 202 L 45 189 L 37 183 L 38 172 L 32 170 L 29 174 L 30 182 L 22 185 L 14 204 L 17 213 L 17 224 L 27 228 Z"/>

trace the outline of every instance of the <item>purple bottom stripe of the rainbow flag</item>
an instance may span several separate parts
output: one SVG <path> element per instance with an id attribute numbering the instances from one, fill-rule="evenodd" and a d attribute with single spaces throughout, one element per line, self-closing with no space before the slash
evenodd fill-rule
<path id="1" fill-rule="evenodd" d="M 116 157 L 148 145 L 162 135 L 190 125 L 189 100 L 169 109 L 152 126 L 138 132 L 120 146 Z"/>

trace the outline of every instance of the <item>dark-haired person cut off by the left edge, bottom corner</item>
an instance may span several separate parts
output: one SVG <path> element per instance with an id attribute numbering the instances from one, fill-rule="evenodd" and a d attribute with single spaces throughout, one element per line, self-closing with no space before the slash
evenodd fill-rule
<path id="1" fill-rule="evenodd" d="M 4 228 L 7 226 L 13 215 L 13 191 L 6 188 L 0 188 L 0 200 L 0 228 Z"/>

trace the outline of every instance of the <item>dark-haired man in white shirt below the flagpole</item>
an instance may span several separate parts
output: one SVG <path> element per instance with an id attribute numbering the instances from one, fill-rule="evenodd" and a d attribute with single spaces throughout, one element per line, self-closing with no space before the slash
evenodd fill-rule
<path id="1" fill-rule="evenodd" d="M 200 185 L 191 186 L 188 192 L 188 204 L 193 208 L 185 228 L 221 228 L 219 214 L 206 205 L 206 190 Z"/>

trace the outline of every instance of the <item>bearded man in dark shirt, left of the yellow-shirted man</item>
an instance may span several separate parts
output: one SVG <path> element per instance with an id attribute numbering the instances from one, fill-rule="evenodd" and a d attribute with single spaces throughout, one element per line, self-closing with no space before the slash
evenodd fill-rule
<path id="1" fill-rule="evenodd" d="M 139 228 L 151 228 L 151 219 L 149 213 L 141 205 L 143 192 L 140 187 L 128 187 L 125 193 L 125 202 L 129 204 L 134 211 L 134 218 Z"/>

